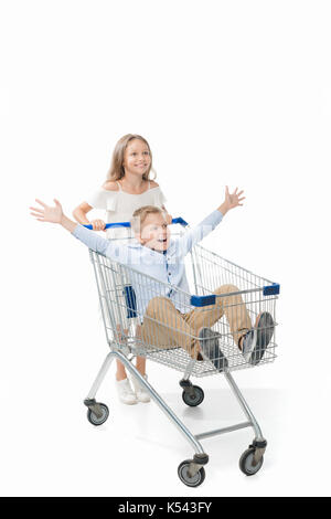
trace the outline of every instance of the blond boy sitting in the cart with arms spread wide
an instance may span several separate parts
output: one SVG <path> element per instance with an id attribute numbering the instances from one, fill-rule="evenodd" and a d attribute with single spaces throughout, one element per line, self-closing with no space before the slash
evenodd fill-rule
<path id="1" fill-rule="evenodd" d="M 111 243 L 71 221 L 63 214 L 57 200 L 54 200 L 53 208 L 36 200 L 43 209 L 30 209 L 39 221 L 60 223 L 93 251 L 134 268 L 131 283 L 146 345 L 160 348 L 180 346 L 196 360 L 203 360 L 203 353 L 222 371 L 227 367 L 227 360 L 218 347 L 218 338 L 209 327 L 225 314 L 236 345 L 247 361 L 256 364 L 273 337 L 273 317 L 268 313 L 260 314 L 253 328 L 242 297 L 233 294 L 238 292 L 233 285 L 223 285 L 214 292 L 216 295 L 226 294 L 216 297 L 214 305 L 191 309 L 184 257 L 229 210 L 243 205 L 241 202 L 245 197 L 241 198 L 242 193 L 236 188 L 231 194 L 226 187 L 225 200 L 220 208 L 177 241 L 170 237 L 161 209 L 152 205 L 140 208 L 131 221 L 136 241 L 128 245 Z M 147 279 L 140 274 L 150 277 Z"/>

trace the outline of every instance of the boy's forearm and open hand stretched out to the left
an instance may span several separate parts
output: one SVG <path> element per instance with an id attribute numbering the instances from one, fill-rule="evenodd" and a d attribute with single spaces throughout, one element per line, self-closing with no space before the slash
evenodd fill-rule
<path id="1" fill-rule="evenodd" d="M 35 216 L 36 220 L 40 222 L 58 223 L 93 251 L 106 254 L 108 248 L 108 253 L 110 252 L 108 240 L 98 236 L 94 231 L 89 231 L 68 219 L 63 213 L 62 205 L 58 200 L 54 199 L 54 206 L 47 205 L 38 199 L 35 199 L 35 201 L 41 205 L 41 208 L 30 208 L 30 210 L 32 216 Z"/>

